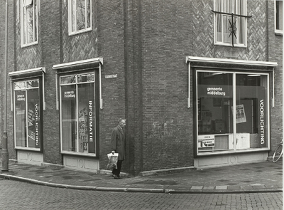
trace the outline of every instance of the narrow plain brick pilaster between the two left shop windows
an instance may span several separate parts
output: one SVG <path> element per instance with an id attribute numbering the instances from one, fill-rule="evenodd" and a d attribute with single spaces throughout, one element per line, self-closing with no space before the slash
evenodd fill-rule
<path id="1" fill-rule="evenodd" d="M 41 1 L 40 43 L 41 65 L 45 67 L 45 107 L 43 111 L 43 161 L 62 164 L 60 154 L 60 112 L 56 110 L 55 70 L 61 63 L 60 5 L 62 1 Z"/>

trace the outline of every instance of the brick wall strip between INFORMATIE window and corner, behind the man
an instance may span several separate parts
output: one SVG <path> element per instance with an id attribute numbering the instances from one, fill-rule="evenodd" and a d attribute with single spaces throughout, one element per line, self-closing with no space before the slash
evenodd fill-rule
<path id="1" fill-rule="evenodd" d="M 98 56 L 104 58 L 102 65 L 103 109 L 99 110 L 100 167 L 107 166 L 111 130 L 119 118 L 126 117 L 126 91 L 124 73 L 124 3 L 123 1 L 96 1 Z M 117 78 L 105 78 L 117 74 Z M 127 119 L 127 117 L 126 117 Z M 129 121 L 127 121 L 129 122 Z M 126 123 L 127 123 L 126 122 Z M 127 136 L 127 142 L 131 141 Z M 129 172 L 129 165 L 123 164 Z"/>

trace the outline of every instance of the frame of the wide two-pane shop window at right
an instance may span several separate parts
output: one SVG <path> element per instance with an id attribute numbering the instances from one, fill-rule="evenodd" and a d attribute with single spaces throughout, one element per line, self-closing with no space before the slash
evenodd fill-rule
<path id="1" fill-rule="evenodd" d="M 236 108 L 236 75 L 238 74 L 247 74 L 247 75 L 266 75 L 266 78 L 267 78 L 267 90 L 266 90 L 266 109 L 267 109 L 267 112 L 266 112 L 266 116 L 268 116 L 268 119 L 267 119 L 267 147 L 258 147 L 258 148 L 249 148 L 249 149 L 237 149 L 236 148 L 236 135 L 238 134 L 237 130 L 236 130 L 236 111 L 234 109 L 234 116 L 233 116 L 233 123 L 234 123 L 234 130 L 233 130 L 233 141 L 234 141 L 234 149 L 227 149 L 227 150 L 224 150 L 224 151 L 219 151 L 219 152 L 200 152 L 199 151 L 199 147 L 198 147 L 198 136 L 199 136 L 199 133 L 198 133 L 198 129 L 199 129 L 199 117 L 198 117 L 198 112 L 199 112 L 199 102 L 198 102 L 198 76 L 197 74 L 200 73 L 200 72 L 204 72 L 204 73 L 230 73 L 233 75 L 233 84 L 232 84 L 232 93 L 233 93 L 233 107 Z M 271 149 L 271 135 L 270 135 L 270 106 L 271 106 L 271 103 L 270 103 L 270 79 L 271 79 L 271 75 L 270 73 L 263 73 L 263 72 L 259 72 L 259 71 L 242 71 L 242 70 L 236 70 L 236 71 L 230 71 L 230 70 L 218 70 L 218 69 L 214 69 L 214 70 L 209 70 L 207 68 L 195 68 L 195 157 L 203 157 L 203 156 L 208 156 L 208 155 L 220 155 L 220 154 L 238 154 L 238 153 L 248 153 L 248 152 L 261 152 L 261 151 L 270 151 Z M 200 134 L 200 135 L 204 135 L 204 134 Z M 208 134 L 207 136 L 210 136 L 210 135 L 218 135 L 218 134 Z"/>

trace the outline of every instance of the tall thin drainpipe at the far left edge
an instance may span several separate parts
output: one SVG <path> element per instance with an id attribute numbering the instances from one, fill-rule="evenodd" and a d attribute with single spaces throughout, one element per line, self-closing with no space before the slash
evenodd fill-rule
<path id="1" fill-rule="evenodd" d="M 2 140 L 2 171 L 9 171 L 8 136 L 7 136 L 7 71 L 8 71 L 8 0 L 5 17 L 5 69 L 4 69 L 4 132 Z"/>

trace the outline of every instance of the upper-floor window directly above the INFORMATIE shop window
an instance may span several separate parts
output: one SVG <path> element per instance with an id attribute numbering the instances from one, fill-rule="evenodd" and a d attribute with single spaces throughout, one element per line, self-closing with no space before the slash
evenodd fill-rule
<path id="1" fill-rule="evenodd" d="M 69 0 L 68 11 L 70 35 L 92 30 L 91 0 Z"/>

